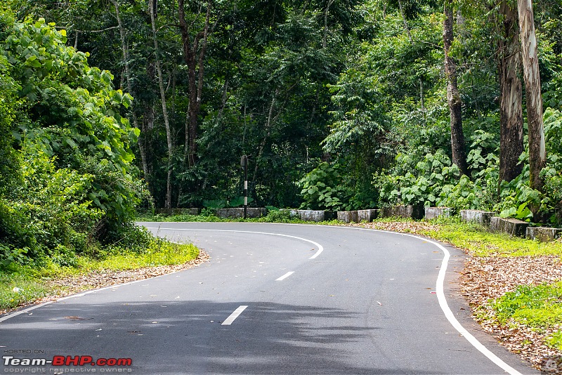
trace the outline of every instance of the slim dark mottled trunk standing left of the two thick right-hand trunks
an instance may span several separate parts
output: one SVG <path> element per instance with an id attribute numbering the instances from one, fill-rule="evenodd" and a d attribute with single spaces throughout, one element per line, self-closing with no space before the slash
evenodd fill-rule
<path id="1" fill-rule="evenodd" d="M 447 104 L 451 114 L 451 150 L 452 162 L 459 167 L 462 174 L 468 175 L 466 152 L 464 151 L 464 134 L 462 133 L 462 101 L 457 85 L 457 66 L 449 56 L 454 40 L 452 25 L 452 0 L 445 0 L 443 20 L 443 46 L 445 46 L 445 78 L 447 79 Z"/>

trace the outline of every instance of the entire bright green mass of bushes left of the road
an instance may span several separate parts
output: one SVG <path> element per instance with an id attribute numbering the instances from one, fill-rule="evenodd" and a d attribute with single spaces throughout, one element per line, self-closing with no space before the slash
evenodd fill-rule
<path id="1" fill-rule="evenodd" d="M 127 224 L 143 195 L 138 130 L 121 115 L 131 96 L 65 30 L 0 11 L 0 266 L 76 265 L 141 234 Z"/>

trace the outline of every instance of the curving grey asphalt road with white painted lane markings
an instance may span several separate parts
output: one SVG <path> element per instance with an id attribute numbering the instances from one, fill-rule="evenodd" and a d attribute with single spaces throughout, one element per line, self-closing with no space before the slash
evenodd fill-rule
<path id="1" fill-rule="evenodd" d="M 318 225 L 141 224 L 211 261 L 0 317 L 1 372 L 539 374 L 471 320 L 450 246 Z M 21 364 L 68 356 L 85 363 Z"/>

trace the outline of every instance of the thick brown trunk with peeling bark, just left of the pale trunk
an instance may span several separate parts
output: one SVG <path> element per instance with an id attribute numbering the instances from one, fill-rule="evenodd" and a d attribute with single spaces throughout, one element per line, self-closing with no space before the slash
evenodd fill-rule
<path id="1" fill-rule="evenodd" d="M 523 165 L 518 164 L 523 152 L 523 89 L 517 76 L 521 53 L 517 13 L 507 0 L 502 0 L 502 39 L 499 41 L 499 183 L 516 178 Z"/>

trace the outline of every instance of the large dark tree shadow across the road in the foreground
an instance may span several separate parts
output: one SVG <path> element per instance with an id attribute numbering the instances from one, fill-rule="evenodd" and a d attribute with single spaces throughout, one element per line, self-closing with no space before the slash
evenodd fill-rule
<path id="1" fill-rule="evenodd" d="M 249 307 L 221 325 L 239 305 Z M 424 373 L 408 369 L 406 358 L 376 354 L 370 335 L 377 327 L 355 325 L 357 318 L 337 308 L 251 301 L 72 301 L 8 320 L 0 336 L 7 348 L 45 350 L 47 358 L 130 357 L 133 374 Z"/>

